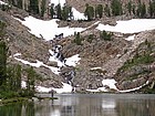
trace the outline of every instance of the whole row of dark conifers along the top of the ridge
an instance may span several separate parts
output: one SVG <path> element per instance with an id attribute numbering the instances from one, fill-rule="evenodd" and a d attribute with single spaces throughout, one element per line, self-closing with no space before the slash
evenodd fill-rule
<path id="1" fill-rule="evenodd" d="M 10 4 L 13 4 L 21 9 L 23 8 L 22 0 L 8 1 Z M 44 13 L 48 11 L 48 15 L 50 15 L 51 19 L 74 19 L 72 7 L 70 7 L 69 4 L 64 4 L 63 7 L 61 7 L 60 3 L 58 6 L 51 4 L 51 7 L 49 8 L 46 6 L 46 0 L 42 0 L 41 3 L 39 3 L 39 0 L 29 0 L 29 2 L 30 3 L 28 9 L 24 10 L 32 14 L 44 17 Z M 4 9 L 3 4 L 1 9 Z M 84 10 L 84 15 L 89 21 L 96 18 L 103 18 L 103 15 L 115 17 L 122 14 L 135 15 L 136 18 L 155 18 L 155 0 L 149 0 L 147 6 L 144 2 L 141 2 L 141 0 L 138 0 L 137 3 L 130 0 L 126 4 L 123 4 L 121 0 L 112 0 L 110 3 L 96 4 L 95 7 L 86 3 Z"/>

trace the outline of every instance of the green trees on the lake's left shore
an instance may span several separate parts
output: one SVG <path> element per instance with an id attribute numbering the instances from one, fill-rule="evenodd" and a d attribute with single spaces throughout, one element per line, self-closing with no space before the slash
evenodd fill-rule
<path id="1" fill-rule="evenodd" d="M 34 82 L 38 76 L 33 67 L 22 68 L 19 64 L 7 62 L 8 45 L 4 41 L 7 24 L 0 21 L 0 99 L 34 95 Z M 27 74 L 27 88 L 21 87 L 22 74 Z"/>

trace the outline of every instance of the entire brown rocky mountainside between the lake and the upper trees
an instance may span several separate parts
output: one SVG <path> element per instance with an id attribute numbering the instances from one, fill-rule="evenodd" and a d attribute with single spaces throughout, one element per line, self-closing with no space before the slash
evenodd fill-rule
<path id="1" fill-rule="evenodd" d="M 8 0 L 3 0 L 8 1 Z M 16 1 L 16 0 L 14 0 Z M 24 27 L 20 20 L 29 13 L 28 0 L 22 0 L 23 4 L 21 10 L 12 7 L 9 11 L 0 10 L 0 21 L 7 24 L 4 41 L 9 46 L 8 63 L 20 64 L 22 68 L 29 67 L 18 61 L 22 59 L 31 63 L 42 62 L 43 65 L 34 67 L 35 72 L 41 75 L 37 81 L 37 85 L 46 87 L 62 87 L 62 82 L 71 84 L 76 92 L 85 92 L 86 89 L 96 89 L 103 86 L 102 81 L 106 78 L 114 78 L 116 86 L 120 91 L 132 89 L 143 85 L 145 91 L 154 91 L 155 80 L 155 31 L 144 31 L 136 33 L 118 33 L 100 31 L 96 29 L 99 23 L 116 25 L 116 20 L 130 19 L 131 17 L 112 17 L 101 18 L 93 21 L 59 21 L 59 27 L 70 28 L 86 28 L 81 33 L 75 33 L 63 38 L 59 41 L 45 41 L 42 38 L 37 38 L 30 33 L 30 29 Z M 43 0 L 39 0 L 42 2 Z M 96 4 L 105 3 L 108 0 L 66 0 L 66 3 L 75 7 L 81 12 L 84 11 L 85 3 Z M 126 0 L 123 0 L 126 2 Z M 145 1 L 147 2 L 147 1 Z M 17 1 L 14 3 L 18 3 Z M 46 2 L 48 3 L 48 2 Z M 18 6 L 18 4 L 16 4 Z M 41 7 L 39 7 L 39 11 Z M 32 13 L 34 17 L 40 18 L 38 14 Z M 44 13 L 45 14 L 45 13 Z M 44 17 L 45 18 L 45 17 Z M 17 20 L 18 19 L 18 20 Z M 97 22 L 100 21 L 100 22 Z M 97 23 L 96 23 L 97 22 Z M 89 28 L 87 28 L 89 27 Z M 133 41 L 125 40 L 134 34 Z M 49 50 L 61 45 L 59 50 L 61 57 L 70 57 L 79 54 L 80 63 L 73 66 L 61 66 L 60 74 L 51 72 L 50 66 L 59 67 L 58 62 L 49 62 Z M 14 54 L 21 53 L 16 56 Z M 60 57 L 60 56 L 58 56 Z M 22 74 L 22 80 L 27 80 L 27 74 Z M 116 89 L 110 89 L 115 92 Z"/>

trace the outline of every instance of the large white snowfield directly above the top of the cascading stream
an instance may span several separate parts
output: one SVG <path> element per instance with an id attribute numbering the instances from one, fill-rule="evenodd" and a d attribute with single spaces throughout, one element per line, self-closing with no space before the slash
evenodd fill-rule
<path id="1" fill-rule="evenodd" d="M 85 29 L 83 28 L 58 28 L 56 19 L 43 21 L 33 17 L 24 18 L 25 21 L 21 23 L 30 29 L 30 32 L 38 38 L 43 36 L 46 41 L 53 40 L 53 38 L 60 33 L 63 33 L 63 36 L 69 36 L 74 34 L 74 32 L 81 32 Z"/>

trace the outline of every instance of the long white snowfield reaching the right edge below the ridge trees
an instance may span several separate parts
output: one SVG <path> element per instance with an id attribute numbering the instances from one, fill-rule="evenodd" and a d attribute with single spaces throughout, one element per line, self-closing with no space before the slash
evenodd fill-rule
<path id="1" fill-rule="evenodd" d="M 121 33 L 136 33 L 155 29 L 155 19 L 132 19 L 127 21 L 116 21 L 116 23 L 115 27 L 100 23 L 96 29 Z"/>

